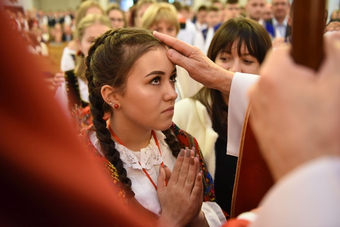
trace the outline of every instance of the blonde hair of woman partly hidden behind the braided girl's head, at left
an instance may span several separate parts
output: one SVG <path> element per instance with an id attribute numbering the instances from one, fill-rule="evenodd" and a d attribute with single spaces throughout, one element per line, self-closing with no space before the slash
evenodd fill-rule
<path id="1" fill-rule="evenodd" d="M 99 15 L 99 14 L 89 14 L 85 16 L 78 24 L 75 35 L 76 37 L 81 41 L 83 39 L 84 33 L 86 28 L 93 24 L 103 24 L 110 28 L 112 28 L 111 21 L 109 18 L 105 15 Z M 85 79 L 85 63 L 84 63 L 84 56 L 77 57 L 76 60 L 76 68 L 74 70 L 75 74 L 81 78 Z"/>

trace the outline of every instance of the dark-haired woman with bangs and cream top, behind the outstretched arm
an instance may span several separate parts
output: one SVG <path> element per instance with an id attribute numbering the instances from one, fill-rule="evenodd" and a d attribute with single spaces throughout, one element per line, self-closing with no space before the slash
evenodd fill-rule
<path id="1" fill-rule="evenodd" d="M 221 25 L 208 57 L 233 72 L 258 74 L 271 42 L 266 30 L 250 19 L 231 19 Z M 230 214 L 237 157 L 226 154 L 228 95 L 203 87 L 176 104 L 174 122 L 197 138 L 207 167 L 214 177 L 216 199 Z"/>

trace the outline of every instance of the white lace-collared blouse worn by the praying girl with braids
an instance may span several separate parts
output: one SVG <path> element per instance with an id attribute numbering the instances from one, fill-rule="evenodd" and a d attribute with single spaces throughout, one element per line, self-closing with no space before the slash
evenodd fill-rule
<path id="1" fill-rule="evenodd" d="M 131 180 L 131 188 L 135 193 L 135 199 L 146 209 L 160 215 L 161 207 L 158 201 L 157 191 L 142 168 L 148 172 L 153 182 L 157 185 L 159 167 L 162 161 L 164 165 L 173 170 L 176 157 L 174 157 L 171 149 L 167 146 L 164 140 L 164 134 L 160 131 L 155 131 L 155 134 L 161 154 L 153 137 L 151 137 L 149 145 L 140 151 L 131 151 L 118 143 L 116 143 L 116 149 L 119 151 L 120 158 L 123 161 L 123 167 L 127 172 L 127 177 Z M 95 148 L 103 155 L 95 132 L 90 134 L 90 140 Z M 216 203 L 203 203 L 202 211 L 205 213 L 210 226 L 221 226 L 225 222 L 222 210 Z"/>

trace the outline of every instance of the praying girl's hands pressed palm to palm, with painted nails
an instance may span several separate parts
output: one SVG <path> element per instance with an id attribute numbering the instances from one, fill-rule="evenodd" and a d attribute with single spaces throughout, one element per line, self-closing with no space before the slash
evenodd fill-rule
<path id="1" fill-rule="evenodd" d="M 166 185 L 165 179 L 168 180 Z M 171 172 L 160 168 L 157 180 L 157 195 L 162 213 L 158 219 L 161 226 L 185 226 L 190 223 L 203 223 L 201 212 L 203 202 L 202 172 L 195 150 L 186 148 L 179 153 Z"/>

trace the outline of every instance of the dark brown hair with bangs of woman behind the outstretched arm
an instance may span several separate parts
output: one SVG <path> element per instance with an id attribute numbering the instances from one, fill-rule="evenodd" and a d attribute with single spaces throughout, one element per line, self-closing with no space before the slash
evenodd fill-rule
<path id="1" fill-rule="evenodd" d="M 230 52 L 234 42 L 237 42 L 239 56 L 241 56 L 241 47 L 244 43 L 249 54 L 256 57 L 260 64 L 266 52 L 271 48 L 270 37 L 264 27 L 251 19 L 235 18 L 228 20 L 217 29 L 208 50 L 208 57 L 215 61 L 217 54 L 221 51 Z M 198 100 L 207 108 L 214 131 L 226 141 L 228 106 L 224 102 L 221 92 L 203 87 L 191 98 Z"/>

